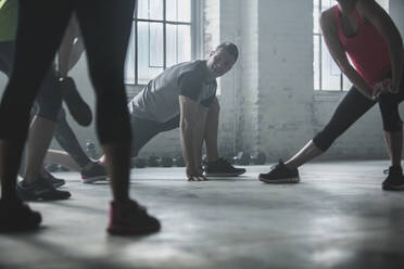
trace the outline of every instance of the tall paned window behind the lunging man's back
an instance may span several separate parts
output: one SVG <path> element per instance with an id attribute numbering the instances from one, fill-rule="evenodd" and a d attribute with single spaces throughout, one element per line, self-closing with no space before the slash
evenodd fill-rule
<path id="1" fill-rule="evenodd" d="M 138 0 L 126 60 L 126 84 L 144 85 L 194 56 L 195 0 Z"/>

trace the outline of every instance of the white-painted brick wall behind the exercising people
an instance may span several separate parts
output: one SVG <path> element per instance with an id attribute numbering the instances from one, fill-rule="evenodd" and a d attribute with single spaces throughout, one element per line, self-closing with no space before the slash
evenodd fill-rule
<path id="1" fill-rule="evenodd" d="M 204 0 L 203 7 L 205 54 L 222 41 L 240 48 L 237 65 L 219 81 L 220 151 L 227 155 L 261 149 L 269 162 L 289 157 L 323 128 L 344 94 L 313 90 L 312 1 Z M 404 15 L 399 12 L 403 1 L 390 0 L 390 9 L 404 33 Z M 72 75 L 93 105 L 85 60 Z M 0 88 L 4 85 L 5 77 L 0 75 Z M 138 91 L 128 87 L 129 95 Z M 83 145 L 97 141 L 92 127 L 72 125 Z M 179 153 L 176 130 L 161 133 L 141 155 Z M 359 119 L 324 157 L 387 157 L 378 108 Z"/>

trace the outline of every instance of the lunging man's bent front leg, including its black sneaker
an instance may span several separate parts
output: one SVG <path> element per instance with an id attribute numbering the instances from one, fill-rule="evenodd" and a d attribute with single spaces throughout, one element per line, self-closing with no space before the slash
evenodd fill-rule
<path id="1" fill-rule="evenodd" d="M 204 141 L 207 162 L 204 171 L 207 177 L 236 177 L 245 172 L 244 168 L 236 168 L 225 158 L 220 158 L 217 148 L 218 117 L 220 106 L 217 98 L 209 107 L 205 124 Z"/>

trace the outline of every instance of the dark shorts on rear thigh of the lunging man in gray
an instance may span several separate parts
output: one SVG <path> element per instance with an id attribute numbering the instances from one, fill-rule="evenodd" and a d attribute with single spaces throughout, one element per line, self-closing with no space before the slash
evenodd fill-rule
<path id="1" fill-rule="evenodd" d="M 156 134 L 177 129 L 179 127 L 179 116 L 165 123 L 131 117 L 130 126 L 132 132 L 131 157 L 136 157 L 139 151 Z"/>

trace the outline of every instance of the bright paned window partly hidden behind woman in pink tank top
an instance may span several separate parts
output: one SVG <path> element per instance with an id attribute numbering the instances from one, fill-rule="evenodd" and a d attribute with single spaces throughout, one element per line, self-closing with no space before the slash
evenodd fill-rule
<path id="1" fill-rule="evenodd" d="M 377 2 L 388 9 L 388 0 L 377 0 Z M 333 7 L 337 2 L 334 0 L 313 0 L 313 42 L 314 42 L 314 89 L 324 91 L 343 91 L 348 90 L 351 82 L 344 75 L 341 74 L 340 68 L 333 62 L 327 46 L 324 41 L 318 18 L 323 11 Z"/>

